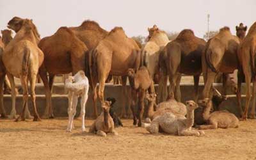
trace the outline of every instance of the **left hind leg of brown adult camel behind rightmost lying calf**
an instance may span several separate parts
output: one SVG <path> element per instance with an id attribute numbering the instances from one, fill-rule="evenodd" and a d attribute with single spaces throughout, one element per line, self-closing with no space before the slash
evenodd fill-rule
<path id="1" fill-rule="evenodd" d="M 209 70 L 208 70 L 209 71 Z M 216 73 L 209 71 L 207 73 L 207 80 L 203 90 L 203 98 L 209 98 L 211 94 L 212 83 L 214 82 Z"/>

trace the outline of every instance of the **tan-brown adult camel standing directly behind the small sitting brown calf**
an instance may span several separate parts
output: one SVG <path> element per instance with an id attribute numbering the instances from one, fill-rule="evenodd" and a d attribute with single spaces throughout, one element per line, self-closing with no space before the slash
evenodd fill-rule
<path id="1" fill-rule="evenodd" d="M 140 47 L 132 38 L 125 35 L 124 29 L 116 27 L 89 52 L 89 71 L 92 81 L 93 106 L 96 108 L 97 88 L 100 102 L 104 100 L 105 81 L 109 75 L 122 76 L 122 86 L 126 86 L 127 70 L 140 67 Z M 124 112 L 124 108 L 123 111 Z"/>

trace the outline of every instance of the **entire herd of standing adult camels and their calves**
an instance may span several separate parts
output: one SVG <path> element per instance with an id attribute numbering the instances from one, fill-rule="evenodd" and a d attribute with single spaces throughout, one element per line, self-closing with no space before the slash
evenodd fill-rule
<path id="1" fill-rule="evenodd" d="M 100 136 L 106 136 L 108 132 L 117 135 L 115 124 L 122 125 L 122 122 L 114 111 L 109 114 L 111 103 L 115 102 L 115 99 L 106 100 L 104 97 L 105 84 L 111 78 L 122 83 L 122 94 L 127 96 L 126 99 L 131 99 L 133 124 L 145 127 L 150 133 L 163 131 L 184 136 L 200 136 L 204 135 L 204 131 L 197 130 L 193 126 L 198 129 L 238 127 L 239 120 L 234 114 L 218 111 L 218 104 L 217 108 L 212 107 L 216 104 L 214 93 L 217 93 L 221 100 L 225 100 L 227 85 L 230 84 L 234 86 L 234 92 L 237 94 L 241 120 L 246 120 L 248 116 L 251 95 L 253 103 L 249 118 L 255 118 L 256 22 L 247 35 L 247 26 L 241 23 L 236 26 L 236 36 L 232 35 L 230 28 L 225 26 L 208 42 L 195 36 L 191 29 L 182 30 L 175 40 L 169 41 L 166 33 L 154 25 L 148 28 L 148 36 L 143 45 L 125 35 L 121 27 L 106 31 L 92 20 L 86 20 L 78 27 L 61 27 L 54 35 L 42 39 L 31 19 L 13 17 L 7 27 L 15 31 L 16 35 L 12 38 L 11 30 L 1 31 L 3 37 L 0 38 L 0 114 L 2 118 L 7 116 L 3 94 L 8 90 L 8 86 L 12 95 L 10 118 L 19 121 L 30 117 L 29 82 L 33 120 L 40 120 L 35 103 L 37 76 L 40 76 L 45 88 L 46 107 L 43 117 L 54 118 L 51 103 L 54 77 L 69 73 L 74 77 L 70 76 L 65 80 L 65 88 L 68 90 L 67 131 L 71 131 L 74 127 L 73 119 L 76 115 L 78 97 L 81 97 L 82 131 L 85 131 L 84 115 L 90 85 L 94 115 L 97 118 L 90 132 L 97 132 Z M 236 69 L 237 83 L 230 77 Z M 186 105 L 180 102 L 182 74 L 194 77 L 194 101 L 189 100 Z M 201 74 L 205 82 L 202 94 L 198 93 Z M 212 86 L 216 76 L 221 76 L 223 79 L 222 95 Z M 16 116 L 17 89 L 14 77 L 20 79 L 23 90 L 20 116 Z M 125 87 L 127 79 L 131 93 Z M 241 83 L 244 81 L 247 90 L 243 111 Z M 97 83 L 99 83 L 98 87 Z M 154 88 L 156 83 L 159 84 L 157 90 Z M 100 116 L 96 106 L 98 97 L 102 108 Z M 148 112 L 143 123 L 145 100 L 148 101 L 146 103 Z M 113 115 L 115 115 L 115 123 Z M 124 106 L 122 106 L 123 115 L 127 115 Z M 200 119 L 202 122 L 197 124 Z"/>

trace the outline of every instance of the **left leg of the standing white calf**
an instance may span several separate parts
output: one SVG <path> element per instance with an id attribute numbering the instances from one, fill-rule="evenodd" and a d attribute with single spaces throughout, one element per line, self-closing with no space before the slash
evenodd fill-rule
<path id="1" fill-rule="evenodd" d="M 71 132 L 73 124 L 74 124 L 74 116 L 76 115 L 76 106 L 77 106 L 77 100 L 78 96 L 74 93 L 72 94 L 71 100 L 72 100 L 72 106 L 71 109 L 68 111 L 68 128 L 67 131 Z"/>

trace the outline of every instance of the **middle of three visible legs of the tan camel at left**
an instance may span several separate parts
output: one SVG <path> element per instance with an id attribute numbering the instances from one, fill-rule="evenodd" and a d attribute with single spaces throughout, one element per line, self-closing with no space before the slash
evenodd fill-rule
<path id="1" fill-rule="evenodd" d="M 20 77 L 20 83 L 22 86 L 22 90 L 23 90 L 23 104 L 22 104 L 22 112 L 20 113 L 20 116 L 18 118 L 16 118 L 16 122 L 19 121 L 19 118 L 21 118 L 21 120 L 25 120 L 25 108 L 26 105 L 28 104 L 28 81 L 27 81 L 27 76 L 22 76 Z"/>

